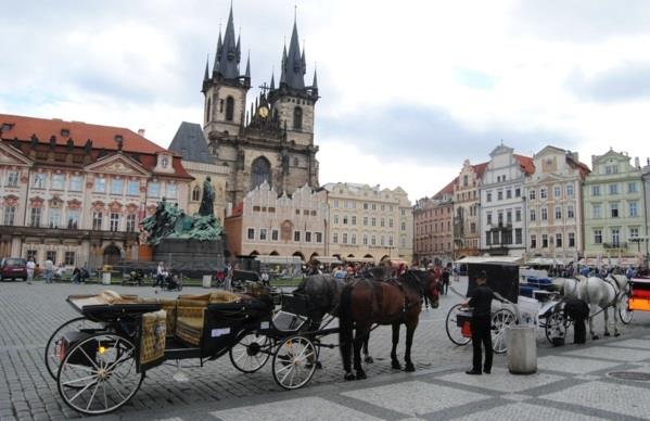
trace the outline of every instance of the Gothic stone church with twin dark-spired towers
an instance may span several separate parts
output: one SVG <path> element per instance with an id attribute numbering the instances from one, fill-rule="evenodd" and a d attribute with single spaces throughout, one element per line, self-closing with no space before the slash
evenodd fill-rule
<path id="1" fill-rule="evenodd" d="M 284 46 L 282 51 L 278 84 L 271 75 L 250 110 L 251 61 L 241 72 L 241 50 L 231 7 L 222 37 L 219 31 L 212 69 L 206 63 L 202 82 L 203 131 L 214 160 L 209 165 L 217 168 L 213 181 L 224 189 L 226 206 L 242 202 L 265 181 L 276 192 L 288 194 L 305 184 L 318 188 L 318 146 L 314 144 L 318 82 L 315 71 L 311 85 L 305 84 L 307 62 L 296 22 L 289 49 Z"/>

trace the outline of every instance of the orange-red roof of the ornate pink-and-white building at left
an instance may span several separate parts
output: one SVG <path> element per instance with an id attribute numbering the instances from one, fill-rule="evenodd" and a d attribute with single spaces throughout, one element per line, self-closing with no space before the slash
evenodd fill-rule
<path id="1" fill-rule="evenodd" d="M 115 137 L 122 136 L 123 151 L 125 152 L 155 154 L 156 152 L 166 151 L 151 140 L 124 127 L 0 114 L 0 127 L 5 125 L 10 125 L 11 128 L 2 130 L 3 139 L 29 140 L 31 135 L 36 135 L 39 141 L 46 143 L 52 136 L 55 136 L 56 144 L 65 145 L 68 139 L 73 139 L 75 146 L 80 148 L 90 139 L 92 140 L 92 148 L 117 150 Z"/>

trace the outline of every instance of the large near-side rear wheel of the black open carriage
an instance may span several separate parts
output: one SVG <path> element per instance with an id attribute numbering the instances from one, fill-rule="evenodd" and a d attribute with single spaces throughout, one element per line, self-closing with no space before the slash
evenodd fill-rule
<path id="1" fill-rule="evenodd" d="M 140 388 L 144 372 L 136 369 L 136 347 L 126 337 L 98 333 L 74 344 L 56 379 L 67 406 L 85 414 L 114 411 Z"/>

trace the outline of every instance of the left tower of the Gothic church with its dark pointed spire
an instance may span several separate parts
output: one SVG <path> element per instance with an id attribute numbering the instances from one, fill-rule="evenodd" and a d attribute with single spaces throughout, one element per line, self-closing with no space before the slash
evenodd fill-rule
<path id="1" fill-rule="evenodd" d="M 246 61 L 244 75 L 241 75 L 240 41 L 240 37 L 234 38 L 231 4 L 224 39 L 219 29 L 212 76 L 209 63 L 205 63 L 201 91 L 205 95 L 203 130 L 208 138 L 240 136 L 244 125 L 246 92 L 251 89 L 251 59 Z"/>

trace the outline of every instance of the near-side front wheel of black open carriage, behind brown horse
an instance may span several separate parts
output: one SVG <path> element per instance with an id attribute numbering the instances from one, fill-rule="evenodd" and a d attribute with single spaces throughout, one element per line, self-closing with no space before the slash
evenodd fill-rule
<path id="1" fill-rule="evenodd" d="M 317 362 L 311 341 L 305 336 L 288 337 L 273 354 L 273 379 L 283 388 L 299 388 L 311 380 Z"/>

